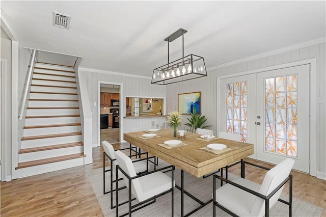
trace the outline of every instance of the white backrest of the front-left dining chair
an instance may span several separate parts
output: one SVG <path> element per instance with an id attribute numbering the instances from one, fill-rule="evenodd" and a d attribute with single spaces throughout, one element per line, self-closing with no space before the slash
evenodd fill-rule
<path id="1" fill-rule="evenodd" d="M 134 177 L 136 176 L 136 171 L 133 167 L 131 159 L 125 155 L 122 151 L 116 151 L 116 157 L 118 161 L 119 167 L 126 173 L 128 174 L 129 177 Z M 123 180 L 125 182 L 125 185 L 129 188 L 129 180 L 125 175 L 123 176 Z M 137 198 L 139 201 L 139 196 L 143 194 L 141 184 L 138 179 L 132 179 L 131 180 L 131 194 Z"/>

